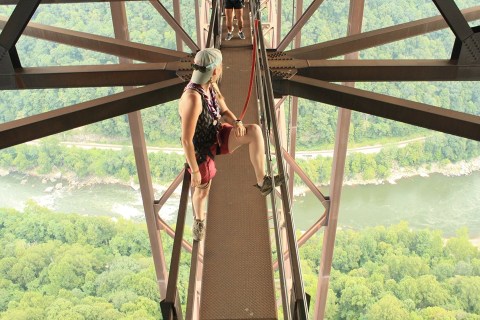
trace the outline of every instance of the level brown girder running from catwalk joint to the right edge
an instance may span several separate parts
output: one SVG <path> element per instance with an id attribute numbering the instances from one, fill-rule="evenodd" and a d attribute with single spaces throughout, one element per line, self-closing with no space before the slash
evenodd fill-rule
<path id="1" fill-rule="evenodd" d="M 333 82 L 478 81 L 480 65 L 452 60 L 269 60 L 274 74 Z"/>

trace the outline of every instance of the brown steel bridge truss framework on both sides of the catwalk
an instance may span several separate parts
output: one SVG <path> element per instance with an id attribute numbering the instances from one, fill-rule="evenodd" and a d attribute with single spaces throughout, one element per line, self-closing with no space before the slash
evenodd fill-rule
<path id="1" fill-rule="evenodd" d="M 131 0 L 140 1 L 140 0 Z M 373 81 L 479 81 L 480 28 L 468 22 L 480 19 L 480 6 L 459 10 L 454 1 L 432 0 L 438 16 L 362 32 L 364 0 L 351 0 L 348 30 L 343 38 L 310 46 L 301 46 L 301 30 L 323 0 L 313 0 L 303 10 L 303 0 L 294 1 L 295 24 L 281 37 L 280 14 L 287 1 L 250 0 L 262 8 L 266 22 L 262 33 L 268 39 L 268 69 L 271 89 L 281 115 L 286 96 L 292 96 L 291 121 L 279 122 L 280 135 L 290 132 L 283 151 L 290 177 L 298 174 L 317 195 L 326 210 L 324 215 L 299 240 L 301 246 L 324 227 L 323 249 L 315 303 L 315 318 L 325 313 L 333 248 L 336 236 L 351 111 L 388 118 L 435 131 L 480 141 L 480 117 L 394 98 L 355 88 L 355 82 Z M 40 4 L 105 2 L 110 5 L 115 38 L 67 30 L 30 22 Z M 71 130 L 118 115 L 128 114 L 132 144 L 140 180 L 146 223 L 161 296 L 166 293 L 169 277 L 160 232 L 174 237 L 173 231 L 159 216 L 166 199 L 181 183 L 183 171 L 160 199 L 154 199 L 142 119 L 139 110 L 176 100 L 191 73 L 192 53 L 206 46 L 218 45 L 218 20 L 215 0 L 195 0 L 197 39 L 190 38 L 182 27 L 179 1 L 173 1 L 171 14 L 161 1 L 150 0 L 152 10 L 176 32 L 176 50 L 135 43 L 129 39 L 125 1 L 81 0 L 0 0 L 1 5 L 15 5 L 9 18 L 0 17 L 0 89 L 47 89 L 123 86 L 125 91 L 64 108 L 0 124 L 0 148 Z M 291 5 L 292 2 L 288 1 Z M 213 12 L 214 14 L 210 14 Z M 265 18 L 264 18 L 265 20 Z M 456 40 L 447 60 L 359 60 L 358 52 L 395 41 L 450 28 Z M 119 57 L 119 63 L 100 66 L 22 67 L 16 44 L 21 36 L 66 44 Z M 213 41 L 213 42 L 212 42 Z M 292 48 L 289 48 L 291 45 Z M 187 49 L 188 48 L 188 49 Z M 329 60 L 345 56 L 344 60 Z M 133 61 L 142 62 L 134 64 Z M 187 77 L 185 77 L 187 75 Z M 342 83 L 342 84 L 336 84 Z M 421 90 L 421 89 L 420 89 Z M 295 162 L 298 98 L 340 107 L 335 139 L 329 197 L 323 196 Z M 478 114 L 478 113 L 477 113 Z M 283 132 L 283 134 L 282 134 Z M 293 180 L 288 192 L 293 194 Z M 196 252 L 187 241 L 178 240 L 189 252 Z M 195 253 L 196 254 L 196 253 Z M 198 262 L 202 263 L 200 255 Z"/>

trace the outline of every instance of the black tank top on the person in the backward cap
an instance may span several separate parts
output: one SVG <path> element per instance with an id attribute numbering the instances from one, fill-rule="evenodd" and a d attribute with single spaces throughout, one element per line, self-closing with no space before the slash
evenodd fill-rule
<path id="1" fill-rule="evenodd" d="M 212 147 L 218 144 L 217 132 L 220 129 L 220 108 L 215 96 L 215 91 L 210 88 L 211 99 L 205 90 L 198 84 L 190 82 L 185 90 L 192 89 L 200 94 L 202 97 L 202 112 L 198 116 L 197 126 L 193 135 L 193 146 L 197 163 L 200 164 L 206 160 L 206 156 L 214 157 Z M 214 149 L 215 150 L 215 149 Z"/>

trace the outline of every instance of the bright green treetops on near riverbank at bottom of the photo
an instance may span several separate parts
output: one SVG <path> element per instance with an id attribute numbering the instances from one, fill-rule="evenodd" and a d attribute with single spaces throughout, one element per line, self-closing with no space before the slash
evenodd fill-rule
<path id="1" fill-rule="evenodd" d="M 172 239 L 162 241 L 171 252 Z M 24 212 L 0 209 L 0 247 L 1 319 L 161 318 L 144 223 L 52 213 L 30 202 Z M 320 235 L 300 248 L 311 305 L 319 252 Z M 182 259 L 178 289 L 185 303 L 190 260 Z M 407 223 L 338 231 L 326 319 L 478 320 L 479 314 L 480 251 L 466 229 L 448 240 Z"/>

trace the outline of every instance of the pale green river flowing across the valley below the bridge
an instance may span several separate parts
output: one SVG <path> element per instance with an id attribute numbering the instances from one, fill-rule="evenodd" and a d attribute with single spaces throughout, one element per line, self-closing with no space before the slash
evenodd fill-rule
<path id="1" fill-rule="evenodd" d="M 131 187 L 94 185 L 45 192 L 46 188 L 57 183 L 42 183 L 39 178 L 16 174 L 0 177 L 0 207 L 21 211 L 26 201 L 32 199 L 57 212 L 114 215 L 133 220 L 143 218 L 140 192 Z M 321 191 L 328 195 L 327 188 Z M 175 194 L 160 214 L 172 222 L 177 208 L 178 194 Z M 296 228 L 306 230 L 323 214 L 323 207 L 312 193 L 307 192 L 294 199 L 293 213 Z M 408 221 L 413 229 L 441 230 L 446 237 L 467 226 L 471 238 L 480 237 L 480 172 L 457 177 L 432 174 L 401 179 L 396 184 L 344 187 L 340 228 L 360 230 L 400 221 Z"/>

